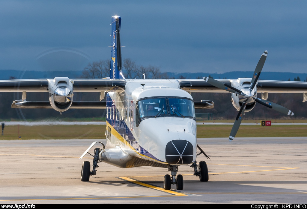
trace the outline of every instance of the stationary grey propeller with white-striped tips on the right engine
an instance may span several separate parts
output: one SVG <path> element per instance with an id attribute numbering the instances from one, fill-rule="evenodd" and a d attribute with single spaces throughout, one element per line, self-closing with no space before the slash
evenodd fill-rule
<path id="1" fill-rule="evenodd" d="M 242 103 L 242 105 L 241 105 L 239 113 L 238 113 L 238 115 L 235 119 L 235 123 L 233 124 L 233 127 L 231 129 L 231 132 L 230 132 L 230 135 L 229 135 L 229 141 L 232 141 L 235 138 L 235 135 L 237 134 L 237 132 L 239 130 L 239 127 L 240 127 L 240 124 L 241 124 L 241 121 L 242 121 L 242 116 L 244 115 L 244 112 L 245 112 L 246 105 L 248 105 L 248 104 L 252 104 L 254 102 L 257 102 L 261 105 L 264 105 L 264 106 L 271 108 L 273 110 L 276 110 L 278 112 L 281 112 L 281 113 L 284 113 L 284 114 L 287 114 L 287 115 L 291 115 L 291 116 L 294 115 L 294 113 L 291 110 L 289 110 L 289 109 L 287 109 L 287 108 L 285 108 L 281 105 L 275 104 L 275 103 L 267 101 L 267 100 L 257 98 L 257 92 L 255 91 L 254 88 L 255 88 L 256 83 L 258 81 L 259 75 L 262 71 L 263 65 L 266 61 L 267 54 L 268 54 L 267 51 L 264 51 L 262 53 L 262 55 L 261 55 L 261 57 L 258 61 L 258 64 L 256 66 L 256 69 L 254 71 L 253 77 L 251 79 L 250 86 L 249 87 L 243 87 L 241 90 L 239 90 L 235 87 L 229 86 L 229 85 L 227 85 L 223 82 L 217 81 L 215 79 L 212 79 L 212 78 L 209 78 L 209 77 L 204 77 L 204 80 L 206 82 L 210 83 L 212 86 L 215 86 L 217 88 L 220 88 L 220 89 L 226 90 L 228 92 L 235 93 L 235 94 L 239 95 L 239 101 Z"/>

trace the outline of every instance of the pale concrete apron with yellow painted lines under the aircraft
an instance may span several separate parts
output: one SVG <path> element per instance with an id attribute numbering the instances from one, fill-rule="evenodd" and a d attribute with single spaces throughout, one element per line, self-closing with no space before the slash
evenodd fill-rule
<path id="1" fill-rule="evenodd" d="M 79 157 L 95 140 L 0 140 L 0 204 L 248 203 L 306 204 L 307 137 L 199 138 L 209 181 L 180 166 L 184 189 L 166 191 L 165 168 L 118 168 L 99 163 L 80 181 Z M 102 140 L 105 142 L 105 140 Z M 92 148 L 91 152 L 94 148 Z"/>

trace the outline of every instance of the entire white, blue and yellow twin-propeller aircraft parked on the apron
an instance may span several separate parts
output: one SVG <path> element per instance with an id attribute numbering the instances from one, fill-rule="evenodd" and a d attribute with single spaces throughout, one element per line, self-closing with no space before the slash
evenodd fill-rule
<path id="1" fill-rule="evenodd" d="M 307 101 L 307 82 L 258 80 L 266 60 L 265 51 L 252 78 L 237 80 L 202 79 L 125 79 L 122 75 L 120 44 L 121 18 L 112 17 L 112 49 L 109 79 L 20 79 L 0 81 L 1 92 L 22 92 L 22 99 L 12 108 L 53 108 L 62 113 L 69 108 L 106 108 L 107 143 L 95 141 L 80 157 L 96 144 L 92 169 L 84 161 L 81 181 L 89 181 L 96 174 L 99 162 L 121 168 L 164 167 L 171 175 L 164 176 L 164 189 L 176 185 L 183 189 L 183 177 L 177 175 L 178 166 L 191 164 L 194 175 L 207 182 L 208 168 L 204 161 L 196 163 L 201 153 L 197 145 L 195 108 L 213 108 L 213 101 L 193 101 L 191 92 L 231 92 L 232 105 L 239 111 L 229 140 L 237 133 L 244 112 L 256 103 L 293 115 L 285 107 L 267 101 L 268 93 L 303 93 Z M 261 98 L 257 97 L 261 93 Z M 49 101 L 26 101 L 27 92 L 48 92 Z M 73 92 L 97 92 L 99 101 L 73 101 Z M 107 93 L 106 102 L 101 100 Z M 98 100 L 98 95 L 97 95 Z M 196 153 L 196 149 L 200 153 Z M 177 178 L 176 178 L 177 176 Z"/>

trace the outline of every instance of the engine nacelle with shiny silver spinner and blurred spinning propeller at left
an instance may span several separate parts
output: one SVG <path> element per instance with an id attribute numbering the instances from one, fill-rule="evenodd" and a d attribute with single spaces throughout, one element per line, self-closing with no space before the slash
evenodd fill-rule
<path id="1" fill-rule="evenodd" d="M 70 108 L 73 100 L 72 79 L 67 77 L 56 77 L 48 79 L 49 102 L 53 109 L 58 112 L 64 112 Z"/>

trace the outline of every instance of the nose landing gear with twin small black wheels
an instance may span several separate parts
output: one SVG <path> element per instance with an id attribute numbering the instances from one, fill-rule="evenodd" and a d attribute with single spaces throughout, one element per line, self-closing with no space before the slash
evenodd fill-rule
<path id="1" fill-rule="evenodd" d="M 178 166 L 177 165 L 168 165 L 167 170 L 171 171 L 171 175 L 166 174 L 164 176 L 164 181 L 163 181 L 163 187 L 165 190 L 170 190 L 172 184 L 176 184 L 176 189 L 177 190 L 182 190 L 183 189 L 183 177 L 181 174 L 177 176 L 177 171 L 178 171 Z"/>

